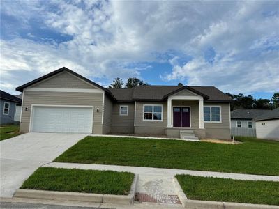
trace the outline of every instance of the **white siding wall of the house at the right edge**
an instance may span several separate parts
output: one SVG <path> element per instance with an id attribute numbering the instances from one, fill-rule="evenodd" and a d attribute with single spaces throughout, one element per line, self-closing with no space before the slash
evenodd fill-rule
<path id="1" fill-rule="evenodd" d="M 257 138 L 279 140 L 279 119 L 256 121 Z"/>

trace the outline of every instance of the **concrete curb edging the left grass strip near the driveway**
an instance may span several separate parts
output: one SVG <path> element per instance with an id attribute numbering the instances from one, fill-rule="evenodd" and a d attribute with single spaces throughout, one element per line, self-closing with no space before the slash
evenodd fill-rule
<path id="1" fill-rule="evenodd" d="M 89 194 L 80 192 L 57 192 L 34 189 L 17 189 L 13 197 L 28 199 L 51 199 L 60 201 L 84 201 L 94 203 L 118 203 L 130 205 L 135 199 L 138 175 L 135 175 L 128 195 Z"/>

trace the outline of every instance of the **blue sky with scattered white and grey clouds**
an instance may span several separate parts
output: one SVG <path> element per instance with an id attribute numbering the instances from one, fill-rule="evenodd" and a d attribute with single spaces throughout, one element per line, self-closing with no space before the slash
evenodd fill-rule
<path id="1" fill-rule="evenodd" d="M 2 1 L 1 89 L 66 66 L 104 86 L 279 91 L 279 1 Z"/>

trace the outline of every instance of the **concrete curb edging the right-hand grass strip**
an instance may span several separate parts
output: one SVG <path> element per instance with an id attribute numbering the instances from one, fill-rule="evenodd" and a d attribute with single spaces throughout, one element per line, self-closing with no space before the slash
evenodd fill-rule
<path id="1" fill-rule="evenodd" d="M 178 180 L 174 177 L 174 185 L 176 192 L 179 196 L 179 200 L 184 208 L 188 209 L 279 209 L 279 206 L 273 205 L 259 205 L 249 203 L 229 203 L 229 202 L 218 202 L 218 201 L 199 201 L 187 199 L 184 194 Z"/>

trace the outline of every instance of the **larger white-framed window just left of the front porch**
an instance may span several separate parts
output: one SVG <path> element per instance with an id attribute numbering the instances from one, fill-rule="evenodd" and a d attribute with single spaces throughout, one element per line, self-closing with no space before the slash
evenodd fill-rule
<path id="1" fill-rule="evenodd" d="M 163 105 L 144 104 L 144 121 L 163 121 Z"/>

